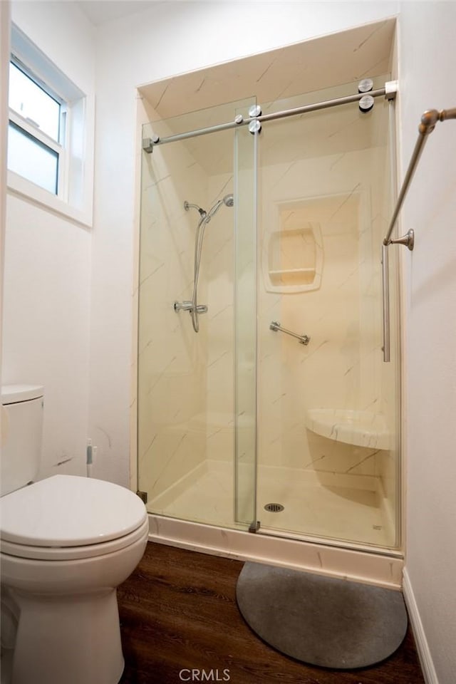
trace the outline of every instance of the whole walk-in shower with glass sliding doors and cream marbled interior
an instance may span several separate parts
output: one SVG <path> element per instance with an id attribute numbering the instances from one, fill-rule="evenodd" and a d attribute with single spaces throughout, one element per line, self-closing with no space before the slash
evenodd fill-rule
<path id="1" fill-rule="evenodd" d="M 249 98 L 143 129 L 138 489 L 153 514 L 400 546 L 389 74 L 368 113 L 361 95 L 348 83 L 261 115 Z"/>

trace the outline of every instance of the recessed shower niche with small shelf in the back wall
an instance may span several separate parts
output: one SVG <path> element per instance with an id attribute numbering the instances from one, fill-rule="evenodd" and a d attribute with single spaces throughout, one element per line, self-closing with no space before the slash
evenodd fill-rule
<path id="1" fill-rule="evenodd" d="M 321 226 L 309 221 L 308 202 L 277 202 L 271 230 L 264 237 L 263 277 L 267 292 L 293 294 L 321 284 Z"/>

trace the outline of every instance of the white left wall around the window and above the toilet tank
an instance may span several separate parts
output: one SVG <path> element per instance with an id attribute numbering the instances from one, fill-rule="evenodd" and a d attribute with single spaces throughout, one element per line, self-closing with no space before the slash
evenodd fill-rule
<path id="1" fill-rule="evenodd" d="M 93 95 L 95 31 L 78 9 L 14 2 L 11 19 Z M 90 231 L 9 192 L 2 383 L 45 387 L 41 477 L 86 472 L 89 309 Z"/>

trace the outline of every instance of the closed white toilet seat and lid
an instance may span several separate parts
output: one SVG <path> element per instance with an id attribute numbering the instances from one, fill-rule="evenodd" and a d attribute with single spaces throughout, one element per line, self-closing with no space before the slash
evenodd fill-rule
<path id="1" fill-rule="evenodd" d="M 0 499 L 1 552 L 70 560 L 133 544 L 147 511 L 130 489 L 76 475 L 54 475 Z"/>

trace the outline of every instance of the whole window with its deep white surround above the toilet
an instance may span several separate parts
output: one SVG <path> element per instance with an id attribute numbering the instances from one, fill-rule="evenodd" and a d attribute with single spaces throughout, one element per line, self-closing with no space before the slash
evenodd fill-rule
<path id="1" fill-rule="evenodd" d="M 12 24 L 9 192 L 90 226 L 94 119 L 93 93 L 83 93 Z"/>

